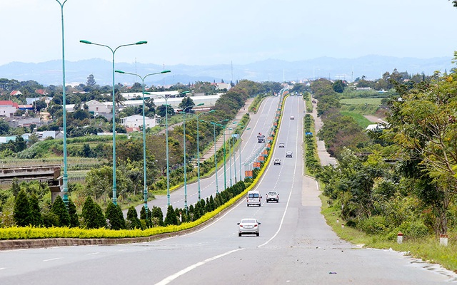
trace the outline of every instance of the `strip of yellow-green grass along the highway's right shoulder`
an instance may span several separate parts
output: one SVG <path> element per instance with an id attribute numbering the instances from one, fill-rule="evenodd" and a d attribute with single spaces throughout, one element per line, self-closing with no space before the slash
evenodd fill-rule
<path id="1" fill-rule="evenodd" d="M 423 239 L 408 239 L 404 237 L 403 243 L 398 244 L 396 240 L 386 241 L 381 235 L 368 235 L 352 227 L 341 227 L 344 224 L 339 211 L 328 207 L 328 198 L 320 195 L 322 201 L 321 213 L 326 218 L 327 224 L 336 232 L 338 237 L 351 242 L 352 244 L 363 245 L 363 247 L 375 249 L 393 249 L 397 252 L 405 252 L 411 257 L 422 259 L 431 264 L 441 264 L 446 269 L 457 273 L 457 232 L 450 232 L 448 235 L 448 246 L 439 244 L 439 239 L 430 235 Z"/>

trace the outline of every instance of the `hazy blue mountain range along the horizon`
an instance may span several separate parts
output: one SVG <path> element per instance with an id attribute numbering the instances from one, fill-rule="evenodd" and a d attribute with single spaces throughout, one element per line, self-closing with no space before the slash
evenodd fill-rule
<path id="1" fill-rule="evenodd" d="M 268 59 L 245 65 L 219 64 L 213 66 L 166 66 L 171 73 L 164 76 L 146 78 L 146 85 L 170 85 L 175 83 L 194 83 L 196 81 L 233 82 L 241 79 L 251 81 L 301 81 L 305 78 L 331 78 L 352 81 L 361 76 L 367 79 L 381 78 L 386 71 L 407 71 L 410 74 L 425 73 L 431 75 L 434 71 L 450 71 L 456 67 L 451 63 L 451 57 L 440 58 L 395 58 L 388 56 L 363 56 L 360 58 L 329 58 L 321 57 L 306 61 L 280 61 Z M 84 61 L 66 61 L 66 83 L 86 83 L 90 74 L 94 75 L 100 86 L 111 85 L 111 61 L 99 58 Z M 46 61 L 43 63 L 13 62 L 0 66 L 0 78 L 16 79 L 18 81 L 37 81 L 44 86 L 62 83 L 61 61 Z M 144 76 L 148 73 L 162 71 L 164 68 L 152 63 L 116 63 L 116 69 L 138 73 Z M 232 78 L 233 74 L 233 78 Z M 116 73 L 116 83 L 139 82 L 136 76 Z"/>

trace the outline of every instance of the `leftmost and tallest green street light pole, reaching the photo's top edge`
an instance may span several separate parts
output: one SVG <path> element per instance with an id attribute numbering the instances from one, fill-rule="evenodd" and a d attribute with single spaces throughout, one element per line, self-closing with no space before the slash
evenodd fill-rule
<path id="1" fill-rule="evenodd" d="M 57 3 L 59 3 L 60 8 L 61 8 L 61 25 L 62 25 L 62 116 L 64 120 L 64 175 L 62 177 L 62 182 L 63 182 L 63 196 L 62 199 L 64 200 L 66 209 L 68 209 L 69 206 L 69 176 L 67 173 L 67 160 L 66 160 L 66 87 L 65 87 L 65 41 L 64 41 L 64 4 L 66 3 L 67 0 L 64 0 L 63 2 L 56 0 Z"/>

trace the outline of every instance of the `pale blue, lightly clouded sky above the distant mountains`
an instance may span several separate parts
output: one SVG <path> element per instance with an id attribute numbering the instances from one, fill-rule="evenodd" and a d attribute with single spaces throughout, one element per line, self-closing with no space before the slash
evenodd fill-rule
<path id="1" fill-rule="evenodd" d="M 63 1 L 63 0 L 61 0 Z M 0 1 L 0 65 L 61 59 L 56 0 Z M 245 64 L 321 56 L 433 58 L 457 50 L 457 9 L 447 0 L 67 0 L 68 61 L 167 65 Z M 1 77 L 1 75 L 0 75 Z"/>

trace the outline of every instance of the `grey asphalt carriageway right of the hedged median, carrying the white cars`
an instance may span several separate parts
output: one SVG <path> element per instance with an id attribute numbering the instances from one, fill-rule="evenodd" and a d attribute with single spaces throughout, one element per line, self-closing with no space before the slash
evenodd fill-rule
<path id="1" fill-rule="evenodd" d="M 274 100 L 271 98 L 271 104 Z M 361 249 L 338 239 L 320 213 L 316 181 L 303 175 L 303 111 L 301 98 L 287 98 L 278 133 L 278 141 L 285 147 L 273 152 L 281 165 L 269 165 L 256 187 L 262 195 L 278 191 L 279 203 L 263 199 L 261 207 L 246 207 L 241 199 L 196 232 L 155 242 L 0 252 L 0 284 L 404 285 L 456 281 L 456 274 L 438 266 L 398 252 Z M 291 115 L 295 120 L 290 120 Z M 263 128 L 261 116 L 251 135 Z M 271 120 L 265 121 L 269 128 Z M 246 145 L 248 141 L 255 145 L 253 138 L 246 133 Z M 286 158 L 286 151 L 292 151 L 293 157 Z M 213 192 L 209 185 L 206 194 Z M 236 223 L 244 217 L 261 222 L 260 237 L 238 237 Z"/>

